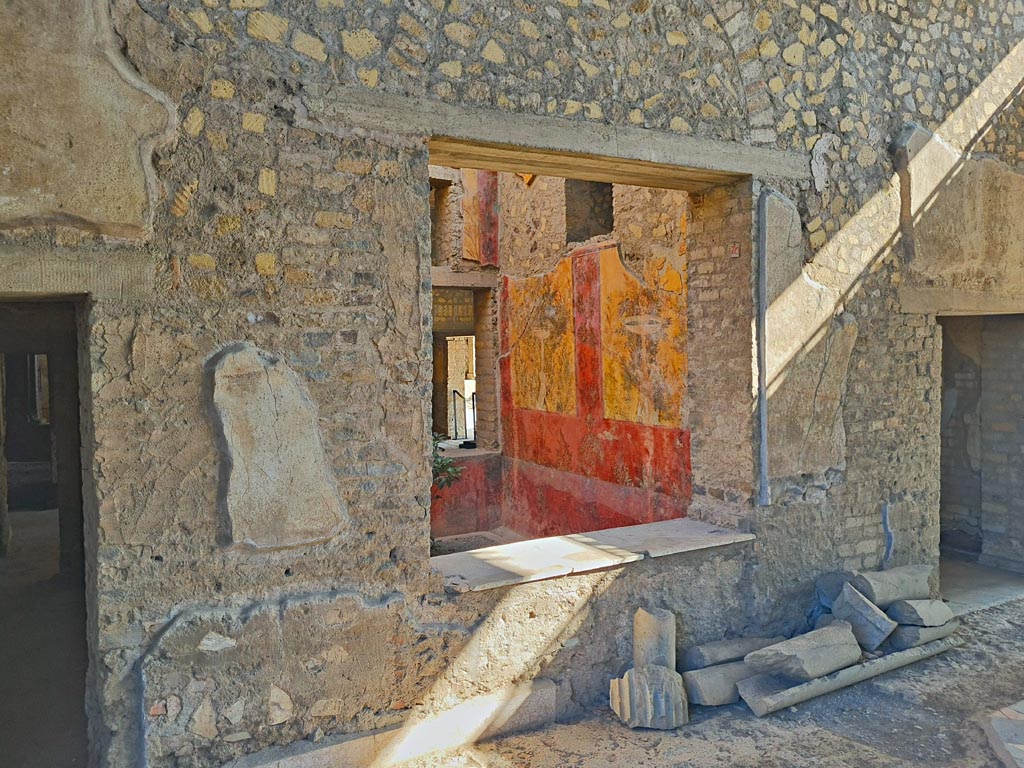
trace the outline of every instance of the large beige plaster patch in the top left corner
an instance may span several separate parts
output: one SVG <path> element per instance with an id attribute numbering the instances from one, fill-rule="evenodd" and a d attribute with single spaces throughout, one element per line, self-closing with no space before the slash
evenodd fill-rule
<path id="1" fill-rule="evenodd" d="M 145 237 L 160 191 L 151 157 L 173 136 L 175 109 L 125 60 L 108 3 L 15 0 L 0 27 L 10 105 L 0 127 L 0 229 Z"/>

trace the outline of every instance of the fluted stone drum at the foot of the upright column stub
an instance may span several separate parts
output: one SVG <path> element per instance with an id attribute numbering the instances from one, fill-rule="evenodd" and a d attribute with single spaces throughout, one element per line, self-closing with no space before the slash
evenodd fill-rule
<path id="1" fill-rule="evenodd" d="M 612 711 L 630 728 L 671 730 L 689 721 L 683 676 L 658 665 L 634 668 L 611 681 Z"/>

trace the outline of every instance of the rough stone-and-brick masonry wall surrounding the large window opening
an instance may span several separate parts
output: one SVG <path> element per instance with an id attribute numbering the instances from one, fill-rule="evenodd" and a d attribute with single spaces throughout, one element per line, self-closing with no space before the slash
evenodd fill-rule
<path id="1" fill-rule="evenodd" d="M 681 642 L 795 630 L 815 573 L 934 560 L 938 330 L 931 315 L 896 314 L 900 201 L 883 147 L 910 121 L 967 144 L 975 118 L 997 117 L 982 113 L 996 113 L 1017 83 L 998 92 L 1001 81 L 993 91 L 986 78 L 1020 43 L 1020 0 L 112 5 L 127 59 L 180 120 L 155 157 L 163 198 L 153 236 L 128 244 L 57 227 L 4 239 L 90 268 L 156 265 L 155 284 L 148 269 L 139 282 L 152 293 L 94 300 L 84 336 L 90 714 L 103 762 L 203 765 L 316 728 L 383 726 L 417 701 L 439 706 L 438 693 L 539 672 L 572 712 L 600 701 L 627 660 L 626 616 L 640 601 L 678 610 Z M 35 87 L 46 92 L 44 80 Z M 690 331 L 719 334 L 707 351 L 722 355 L 722 373 L 688 391 L 694 406 L 727 396 L 742 416 L 687 417 L 717 441 L 693 443 L 694 505 L 726 503 L 757 543 L 613 579 L 444 595 L 427 571 L 425 137 L 397 122 L 373 132 L 333 122 L 332 96 L 352 93 L 810 153 L 813 185 L 768 181 L 800 213 L 806 273 L 834 292 L 822 319 L 843 310 L 858 324 L 842 399 L 845 469 L 791 478 L 771 507 L 743 506 L 756 476 L 752 317 L 722 327 L 719 315 L 753 294 L 754 217 L 750 197 L 713 190 L 705 210 L 722 211 L 711 220 L 728 233 L 688 254 L 691 305 L 706 308 Z M 958 112 L 969 102 L 971 119 Z M 994 125 L 985 146 L 1005 157 L 1014 123 Z M 737 257 L 715 250 L 732 232 Z M 218 545 L 223 457 L 202 372 L 247 340 L 280 354 L 317 404 L 350 535 L 255 557 Z M 695 370 L 713 361 L 691 350 Z M 735 459 L 701 462 L 718 449 Z M 278 643 L 286 637 L 294 644 Z M 537 638 L 557 645 L 503 665 Z M 222 666 L 211 653 L 225 654 Z M 332 688 L 346 676 L 349 688 Z"/>

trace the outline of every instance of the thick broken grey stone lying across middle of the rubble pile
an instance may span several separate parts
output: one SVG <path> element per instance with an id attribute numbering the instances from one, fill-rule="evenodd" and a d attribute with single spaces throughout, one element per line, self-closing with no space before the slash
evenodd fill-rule
<path id="1" fill-rule="evenodd" d="M 748 653 L 743 660 L 757 673 L 810 680 L 859 662 L 860 644 L 849 623 L 840 621 Z"/>

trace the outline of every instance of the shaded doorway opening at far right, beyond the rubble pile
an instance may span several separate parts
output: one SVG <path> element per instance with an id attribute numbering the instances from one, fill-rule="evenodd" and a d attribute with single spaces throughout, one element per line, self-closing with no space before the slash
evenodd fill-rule
<path id="1" fill-rule="evenodd" d="M 1024 597 L 1024 315 L 939 323 L 942 590 L 965 612 Z"/>

